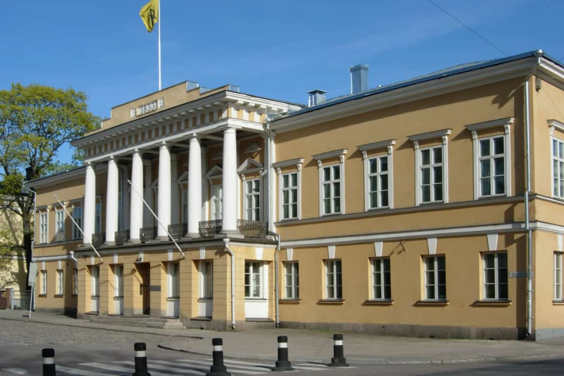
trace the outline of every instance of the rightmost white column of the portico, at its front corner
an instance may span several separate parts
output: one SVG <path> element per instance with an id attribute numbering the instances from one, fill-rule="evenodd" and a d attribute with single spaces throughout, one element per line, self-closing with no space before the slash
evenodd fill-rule
<path id="1" fill-rule="evenodd" d="M 237 232 L 237 139 L 235 128 L 223 131 L 222 232 Z"/>

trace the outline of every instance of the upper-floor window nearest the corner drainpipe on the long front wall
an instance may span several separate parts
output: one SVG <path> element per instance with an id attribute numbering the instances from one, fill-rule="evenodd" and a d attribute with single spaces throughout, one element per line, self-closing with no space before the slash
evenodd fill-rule
<path id="1" fill-rule="evenodd" d="M 505 194 L 504 136 L 479 139 L 480 197 Z"/>

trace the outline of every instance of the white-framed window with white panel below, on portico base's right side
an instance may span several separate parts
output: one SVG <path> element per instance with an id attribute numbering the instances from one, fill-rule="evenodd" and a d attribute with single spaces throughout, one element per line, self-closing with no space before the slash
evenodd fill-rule
<path id="1" fill-rule="evenodd" d="M 268 319 L 268 264 L 245 262 L 245 317 Z"/>

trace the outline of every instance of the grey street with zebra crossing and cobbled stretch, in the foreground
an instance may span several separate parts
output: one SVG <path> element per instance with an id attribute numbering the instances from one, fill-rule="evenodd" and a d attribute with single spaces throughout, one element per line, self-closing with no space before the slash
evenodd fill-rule
<path id="1" fill-rule="evenodd" d="M 147 343 L 149 371 L 159 375 L 205 375 L 211 365 L 209 355 L 164 350 L 158 343 L 166 335 L 131 333 L 36 322 L 0 319 L 0 375 L 41 375 L 42 348 L 55 349 L 58 375 L 123 376 L 134 371 L 133 343 Z M 218 337 L 221 334 L 218 333 Z M 347 355 L 347 354 L 345 354 Z M 349 354 L 351 357 L 354 354 Z M 294 357 L 298 357 L 294 354 Z M 290 361 L 292 353 L 290 352 Z M 329 361 L 329 359 L 328 359 Z M 296 375 L 533 375 L 561 374 L 564 357 L 522 362 L 461 362 L 456 364 L 354 364 L 350 368 L 330 368 L 321 362 L 292 361 Z M 224 360 L 233 375 L 268 374 L 274 362 L 267 360 Z"/>

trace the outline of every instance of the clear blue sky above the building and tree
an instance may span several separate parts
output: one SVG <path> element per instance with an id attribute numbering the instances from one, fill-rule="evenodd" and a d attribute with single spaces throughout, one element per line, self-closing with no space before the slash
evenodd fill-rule
<path id="1" fill-rule="evenodd" d="M 543 48 L 564 58 L 564 2 L 434 0 L 508 55 Z M 90 110 L 158 89 L 157 33 L 139 18 L 146 0 L 25 0 L 3 5 L 0 88 L 73 87 Z M 369 86 L 505 56 L 426 0 L 161 0 L 162 86 L 206 87 L 298 103 L 306 92 L 347 94 L 349 65 L 370 65 Z M 70 161 L 68 148 L 61 161 Z"/>

